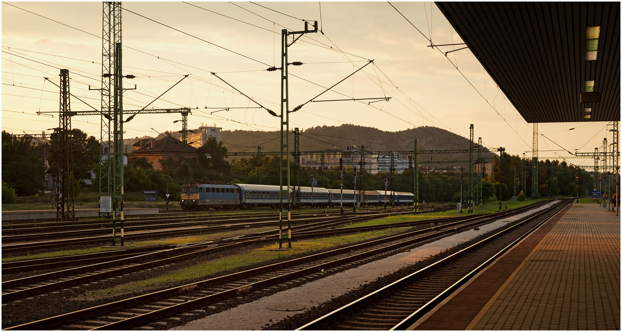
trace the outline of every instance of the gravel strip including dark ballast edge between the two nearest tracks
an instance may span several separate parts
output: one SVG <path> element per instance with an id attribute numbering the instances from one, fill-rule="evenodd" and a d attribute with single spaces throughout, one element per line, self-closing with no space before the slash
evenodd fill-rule
<path id="1" fill-rule="evenodd" d="M 544 210 L 552 204 L 544 205 L 535 211 Z M 184 325 L 170 328 L 170 330 L 294 330 L 346 303 L 409 275 L 437 259 L 470 246 L 479 241 L 480 237 L 488 236 L 487 232 L 509 226 L 508 221 L 516 221 L 533 214 L 535 211 L 532 210 L 531 213 L 523 213 L 479 226 L 479 230 L 471 229 L 453 234 L 416 247 L 410 252 L 401 252 L 360 267 L 328 275 L 300 287 L 284 290 L 254 302 L 244 303 L 201 320 L 190 321 Z M 269 305 L 280 303 L 302 305 L 305 310 L 274 311 L 267 309 Z"/>

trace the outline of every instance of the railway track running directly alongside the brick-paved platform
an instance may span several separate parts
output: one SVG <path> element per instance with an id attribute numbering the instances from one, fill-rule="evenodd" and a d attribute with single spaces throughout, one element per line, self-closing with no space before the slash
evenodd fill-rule
<path id="1" fill-rule="evenodd" d="M 552 206 L 297 330 L 406 330 L 570 201 Z M 526 226 L 535 220 L 535 226 Z"/>

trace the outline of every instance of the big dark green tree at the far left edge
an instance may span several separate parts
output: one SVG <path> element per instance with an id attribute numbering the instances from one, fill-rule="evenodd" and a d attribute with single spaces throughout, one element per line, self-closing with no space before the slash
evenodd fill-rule
<path id="1" fill-rule="evenodd" d="M 34 195 L 44 188 L 45 162 L 37 155 L 30 139 L 14 139 L 2 131 L 2 180 L 17 195 Z"/>

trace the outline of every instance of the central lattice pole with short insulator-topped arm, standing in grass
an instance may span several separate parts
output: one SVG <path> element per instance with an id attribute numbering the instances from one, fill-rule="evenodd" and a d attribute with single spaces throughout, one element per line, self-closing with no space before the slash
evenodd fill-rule
<path id="1" fill-rule="evenodd" d="M 287 59 L 287 49 L 293 45 L 296 40 L 302 37 L 303 34 L 307 34 L 309 32 L 317 32 L 317 21 L 315 21 L 314 25 L 315 29 L 309 30 L 309 22 L 305 21 L 305 30 L 304 31 L 291 31 L 288 32 L 287 29 L 281 30 L 281 159 L 279 160 L 279 164 L 281 165 L 279 168 L 279 185 L 281 189 L 279 191 L 281 199 L 279 200 L 279 249 L 283 247 L 283 240 L 287 239 L 287 247 L 292 247 L 292 214 L 291 214 L 291 199 L 289 195 L 290 188 L 290 178 L 289 178 L 289 76 L 287 75 L 287 67 L 290 65 Z M 299 36 L 292 41 L 292 44 L 287 44 L 287 36 L 288 35 L 296 35 Z M 283 189 L 284 177 L 287 178 L 287 189 Z M 283 196 L 287 195 L 287 214 L 285 214 L 285 209 L 283 207 Z M 287 235 L 283 234 L 283 217 L 287 216 Z"/>

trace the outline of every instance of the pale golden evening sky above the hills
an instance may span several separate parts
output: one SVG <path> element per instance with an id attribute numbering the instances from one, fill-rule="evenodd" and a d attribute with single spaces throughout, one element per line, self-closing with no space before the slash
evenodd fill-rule
<path id="1" fill-rule="evenodd" d="M 281 67 L 282 29 L 300 31 L 302 20 L 318 21 L 321 32 L 304 34 L 288 47 L 289 62 L 304 63 L 289 66 L 289 107 L 306 103 L 290 113 L 291 129 L 435 126 L 468 138 L 473 124 L 475 141 L 481 137 L 486 147 L 531 157 L 532 124 L 468 48 L 445 56 L 464 45 L 439 47 L 442 52 L 428 47 L 429 39 L 436 45 L 462 43 L 433 2 L 123 2 L 122 7 L 123 75 L 136 76 L 124 79 L 124 88 L 136 85 L 123 94 L 126 111 L 153 101 L 154 108 L 197 108 L 188 116 L 188 129 L 215 124 L 223 130 L 276 131 L 279 118 L 256 108 L 259 103 L 280 113 L 280 71 L 266 69 Z M 2 3 L 3 130 L 38 134 L 58 127 L 59 89 L 52 82 L 59 84 L 62 68 L 70 71 L 70 92 L 90 104 L 72 97 L 71 110 L 101 108 L 100 93 L 91 89 L 101 87 L 102 13 L 101 2 Z M 99 139 L 100 118 L 75 116 L 72 127 Z M 124 124 L 124 137 L 179 131 L 181 122 L 173 123 L 179 119 L 180 114 L 139 114 Z M 539 157 L 593 152 L 603 138 L 611 141 L 608 124 L 541 123 Z M 593 165 L 592 159 L 567 161 Z"/>

